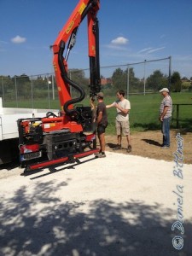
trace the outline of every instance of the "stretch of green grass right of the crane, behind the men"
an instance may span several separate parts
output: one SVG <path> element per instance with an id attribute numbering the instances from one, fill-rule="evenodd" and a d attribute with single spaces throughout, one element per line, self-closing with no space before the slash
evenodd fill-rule
<path id="1" fill-rule="evenodd" d="M 173 104 L 191 104 L 190 106 L 179 106 L 179 128 L 185 128 L 187 131 L 192 130 L 192 94 L 190 93 L 172 93 Z M 113 102 L 114 98 L 107 98 L 105 102 L 108 104 Z M 160 94 L 148 95 L 131 95 L 129 97 L 131 102 L 130 124 L 131 131 L 147 131 L 159 130 L 160 121 L 159 107 L 162 100 Z M 114 108 L 108 109 L 108 133 L 114 131 L 114 119 L 116 110 Z M 173 106 L 172 113 L 172 128 L 176 128 L 177 122 L 177 108 Z"/>

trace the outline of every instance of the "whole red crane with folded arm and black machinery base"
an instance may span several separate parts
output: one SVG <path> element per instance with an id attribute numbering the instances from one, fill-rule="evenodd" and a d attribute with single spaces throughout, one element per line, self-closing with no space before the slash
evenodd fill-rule
<path id="1" fill-rule="evenodd" d="M 99 9 L 99 0 L 80 0 L 52 45 L 61 112 L 58 115 L 49 112 L 44 118 L 18 120 L 20 163 L 26 166 L 25 172 L 98 152 L 93 110 L 90 106 L 75 107 L 74 104 L 84 100 L 85 93 L 81 84 L 69 79 L 67 60 L 76 43 L 79 26 L 87 17 L 90 102 L 94 102 L 101 89 L 96 16 Z M 78 97 L 71 96 L 71 87 L 79 92 Z"/>

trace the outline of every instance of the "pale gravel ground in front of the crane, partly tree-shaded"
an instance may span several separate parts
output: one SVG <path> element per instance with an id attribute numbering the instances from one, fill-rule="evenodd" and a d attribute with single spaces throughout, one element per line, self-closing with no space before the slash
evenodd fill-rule
<path id="1" fill-rule="evenodd" d="M 0 255 L 192 255 L 192 165 L 110 151 L 80 162 L 0 171 Z"/>

